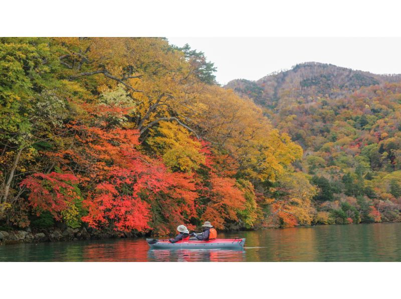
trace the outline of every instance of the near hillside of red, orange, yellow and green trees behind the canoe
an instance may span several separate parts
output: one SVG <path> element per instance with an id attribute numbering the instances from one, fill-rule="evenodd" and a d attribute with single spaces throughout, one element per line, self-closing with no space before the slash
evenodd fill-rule
<path id="1" fill-rule="evenodd" d="M 315 221 L 301 146 L 214 71 L 164 38 L 0 38 L 0 228 Z"/>

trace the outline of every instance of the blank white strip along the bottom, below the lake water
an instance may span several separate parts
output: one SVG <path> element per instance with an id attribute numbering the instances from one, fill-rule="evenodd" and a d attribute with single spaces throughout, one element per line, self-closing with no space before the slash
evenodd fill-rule
<path id="1" fill-rule="evenodd" d="M 5 298 L 338 299 L 399 293 L 398 263 L 48 262 L 1 263 L 0 269 Z"/>

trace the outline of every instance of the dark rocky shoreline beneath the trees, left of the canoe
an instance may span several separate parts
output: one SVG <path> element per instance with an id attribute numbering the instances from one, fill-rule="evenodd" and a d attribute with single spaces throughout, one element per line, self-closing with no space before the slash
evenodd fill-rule
<path id="1" fill-rule="evenodd" d="M 107 238 L 127 238 L 144 236 L 140 232 L 101 231 L 95 228 L 52 227 L 49 229 L 26 228 L 23 230 L 0 230 L 0 244 L 99 240 Z"/>

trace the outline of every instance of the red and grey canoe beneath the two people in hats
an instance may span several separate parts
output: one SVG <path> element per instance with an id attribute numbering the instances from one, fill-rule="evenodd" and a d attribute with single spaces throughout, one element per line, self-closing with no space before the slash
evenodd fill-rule
<path id="1" fill-rule="evenodd" d="M 146 239 L 152 249 L 242 249 L 245 238 L 214 239 L 210 241 L 187 240 L 171 243 L 169 240 Z"/>

